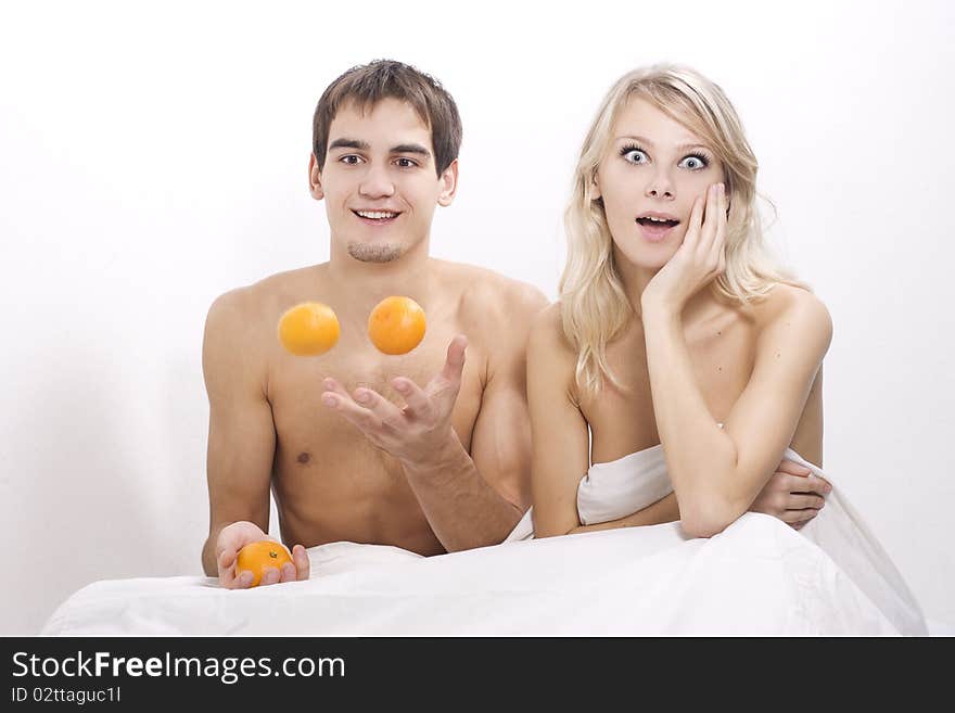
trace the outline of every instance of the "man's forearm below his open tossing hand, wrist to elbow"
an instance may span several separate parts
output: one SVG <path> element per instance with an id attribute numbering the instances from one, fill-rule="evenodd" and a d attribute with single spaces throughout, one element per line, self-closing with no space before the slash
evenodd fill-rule
<path id="1" fill-rule="evenodd" d="M 442 453 L 403 468 L 424 517 L 449 552 L 497 545 L 521 519 L 521 510 L 487 484 L 457 436 Z"/>

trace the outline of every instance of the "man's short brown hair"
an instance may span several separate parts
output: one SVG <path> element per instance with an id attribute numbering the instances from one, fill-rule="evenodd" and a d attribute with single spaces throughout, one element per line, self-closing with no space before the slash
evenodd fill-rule
<path id="1" fill-rule="evenodd" d="M 455 100 L 430 75 L 394 60 L 375 60 L 345 72 L 318 100 L 311 140 L 319 169 L 324 167 L 329 128 L 339 109 L 355 102 L 365 111 L 389 98 L 408 102 L 431 129 L 437 175 L 450 166 L 461 147 L 461 117 Z"/>

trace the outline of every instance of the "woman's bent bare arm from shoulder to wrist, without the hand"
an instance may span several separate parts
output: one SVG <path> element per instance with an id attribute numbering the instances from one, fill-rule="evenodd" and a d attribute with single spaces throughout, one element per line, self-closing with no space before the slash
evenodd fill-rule
<path id="1" fill-rule="evenodd" d="M 686 532 L 709 537 L 746 512 L 792 441 L 832 323 L 808 292 L 787 295 L 762 328 L 753 372 L 721 430 L 697 385 L 679 315 L 645 305 L 657 428 Z"/>

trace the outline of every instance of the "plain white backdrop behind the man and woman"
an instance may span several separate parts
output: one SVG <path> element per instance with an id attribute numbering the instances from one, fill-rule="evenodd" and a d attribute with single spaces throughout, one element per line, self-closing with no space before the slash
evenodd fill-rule
<path id="1" fill-rule="evenodd" d="M 0 634 L 94 580 L 201 573 L 206 310 L 327 259 L 311 113 L 377 58 L 435 75 L 463 117 L 433 253 L 551 298 L 607 88 L 664 60 L 721 84 L 774 241 L 833 318 L 826 469 L 955 624 L 951 3 L 328 4 L 3 5 Z"/>

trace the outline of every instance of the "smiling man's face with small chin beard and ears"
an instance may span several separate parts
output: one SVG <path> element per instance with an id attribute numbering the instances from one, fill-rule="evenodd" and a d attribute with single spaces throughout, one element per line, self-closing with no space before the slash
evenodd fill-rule
<path id="1" fill-rule="evenodd" d="M 389 263 L 426 240 L 436 204 L 449 205 L 457 161 L 437 176 L 431 129 L 384 99 L 362 113 L 342 106 L 329 127 L 324 168 L 311 158 L 311 192 L 326 200 L 332 241 L 365 263 Z"/>

